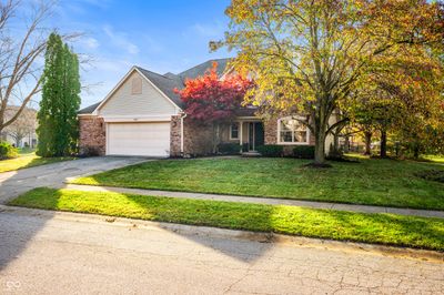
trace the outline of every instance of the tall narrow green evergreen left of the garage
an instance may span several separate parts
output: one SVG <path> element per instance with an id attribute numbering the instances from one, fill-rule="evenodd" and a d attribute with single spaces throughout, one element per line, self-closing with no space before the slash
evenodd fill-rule
<path id="1" fill-rule="evenodd" d="M 51 33 L 48 40 L 42 85 L 37 153 L 42 156 L 73 154 L 79 138 L 79 61 L 57 33 Z"/>

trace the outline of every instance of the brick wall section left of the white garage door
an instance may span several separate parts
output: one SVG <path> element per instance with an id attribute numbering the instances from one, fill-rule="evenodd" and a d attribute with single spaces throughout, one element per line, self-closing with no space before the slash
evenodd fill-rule
<path id="1" fill-rule="evenodd" d="M 103 119 L 97 116 L 79 118 L 80 140 L 79 148 L 81 154 L 97 153 L 105 154 L 105 124 Z"/>

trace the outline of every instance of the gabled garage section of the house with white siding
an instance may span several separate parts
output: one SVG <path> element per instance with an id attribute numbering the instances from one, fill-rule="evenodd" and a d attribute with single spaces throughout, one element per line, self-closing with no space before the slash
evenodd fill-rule
<path id="1" fill-rule="evenodd" d="M 178 131 L 171 133 L 171 122 L 183 106 L 174 89 L 181 88 L 179 75 L 133 67 L 103 101 L 79 113 L 80 150 L 84 154 L 170 156 L 170 145 L 178 148 Z"/>

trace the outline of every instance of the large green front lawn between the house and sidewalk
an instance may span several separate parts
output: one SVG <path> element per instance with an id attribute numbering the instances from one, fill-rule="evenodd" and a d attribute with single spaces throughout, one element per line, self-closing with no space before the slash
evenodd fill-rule
<path id="1" fill-rule="evenodd" d="M 310 169 L 296 159 L 165 160 L 74 180 L 77 184 L 444 210 L 444 184 L 415 175 L 444 164 L 360 159 Z"/>

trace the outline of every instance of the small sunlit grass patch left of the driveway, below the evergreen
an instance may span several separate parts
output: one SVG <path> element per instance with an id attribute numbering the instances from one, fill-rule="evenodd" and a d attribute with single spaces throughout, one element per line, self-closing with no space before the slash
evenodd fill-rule
<path id="1" fill-rule="evenodd" d="M 16 159 L 0 161 L 0 173 L 7 171 L 16 171 L 19 169 L 40 166 L 44 164 L 73 160 L 74 157 L 62 156 L 62 157 L 41 157 L 34 153 L 20 154 Z"/>

